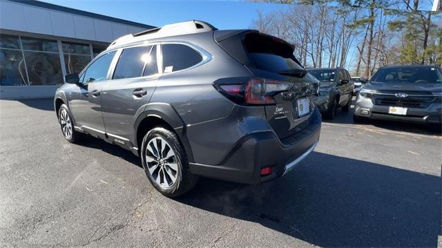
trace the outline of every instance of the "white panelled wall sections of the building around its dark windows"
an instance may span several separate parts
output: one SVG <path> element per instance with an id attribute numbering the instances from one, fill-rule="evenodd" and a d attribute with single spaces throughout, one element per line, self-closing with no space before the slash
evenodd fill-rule
<path id="1" fill-rule="evenodd" d="M 78 15 L 77 13 L 53 10 L 26 3 L 0 0 L 0 32 L 11 30 L 15 35 L 26 37 L 44 37 L 62 41 L 88 43 L 92 53 L 94 42 L 111 43 L 118 37 L 129 33 L 142 32 L 145 28 Z M 23 32 L 23 33 L 22 33 Z M 6 32 L 8 33 L 8 32 Z M 49 35 L 50 37 L 46 37 Z M 90 41 L 90 42 L 88 42 Z M 60 50 L 60 61 L 63 73 L 63 53 Z M 92 54 L 91 54 L 92 56 Z M 1 61 L 0 61 L 1 63 Z M 59 86 L 0 86 L 0 99 L 22 99 L 52 97 Z"/>

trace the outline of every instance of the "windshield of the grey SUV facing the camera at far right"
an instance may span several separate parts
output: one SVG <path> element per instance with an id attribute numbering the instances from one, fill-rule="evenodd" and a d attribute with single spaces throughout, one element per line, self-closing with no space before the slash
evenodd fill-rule
<path id="1" fill-rule="evenodd" d="M 381 68 L 370 81 L 385 83 L 410 82 L 416 84 L 441 84 L 442 73 L 441 70 L 434 67 Z"/>

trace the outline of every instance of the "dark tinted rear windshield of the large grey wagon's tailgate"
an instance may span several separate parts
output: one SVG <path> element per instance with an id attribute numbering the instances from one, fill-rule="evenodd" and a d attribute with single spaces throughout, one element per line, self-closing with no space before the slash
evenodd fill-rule
<path id="1" fill-rule="evenodd" d="M 245 37 L 244 45 L 249 58 L 258 69 L 271 73 L 303 69 L 293 55 L 293 48 L 280 39 L 250 33 Z"/>

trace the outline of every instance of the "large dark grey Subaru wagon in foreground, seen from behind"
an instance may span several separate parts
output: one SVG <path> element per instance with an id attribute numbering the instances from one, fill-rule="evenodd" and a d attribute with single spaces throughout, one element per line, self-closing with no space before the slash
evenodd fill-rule
<path id="1" fill-rule="evenodd" d="M 140 155 L 162 194 L 198 175 L 259 183 L 316 146 L 316 79 L 285 41 L 186 21 L 114 41 L 55 95 L 64 137 L 88 133 Z"/>

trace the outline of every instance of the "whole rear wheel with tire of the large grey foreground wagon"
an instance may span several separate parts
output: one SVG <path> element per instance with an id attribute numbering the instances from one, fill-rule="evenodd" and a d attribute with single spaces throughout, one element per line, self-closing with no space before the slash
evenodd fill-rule
<path id="1" fill-rule="evenodd" d="M 167 197 L 182 195 L 198 182 L 177 135 L 166 128 L 153 128 L 144 135 L 140 155 L 148 180 Z"/>

